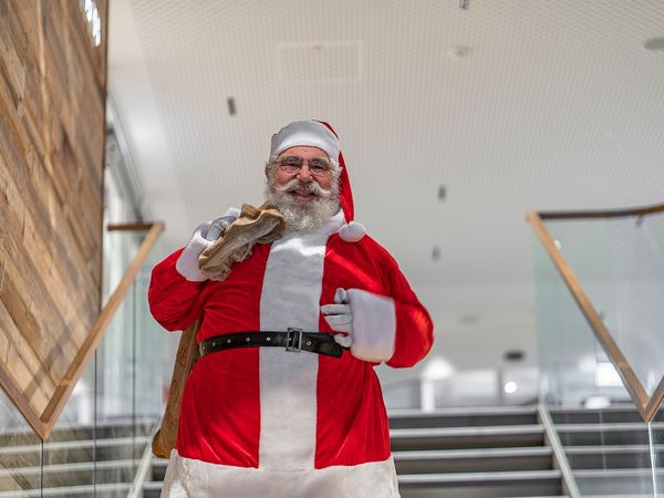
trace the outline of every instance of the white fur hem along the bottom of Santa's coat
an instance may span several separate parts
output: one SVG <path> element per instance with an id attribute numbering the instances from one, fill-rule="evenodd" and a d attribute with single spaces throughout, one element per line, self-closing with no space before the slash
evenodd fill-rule
<path id="1" fill-rule="evenodd" d="M 170 455 L 162 498 L 398 498 L 392 457 L 354 466 L 278 471 Z"/>

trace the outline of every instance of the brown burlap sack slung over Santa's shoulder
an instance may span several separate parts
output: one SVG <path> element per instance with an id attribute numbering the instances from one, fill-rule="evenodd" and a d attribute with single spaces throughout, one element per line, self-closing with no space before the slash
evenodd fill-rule
<path id="1" fill-rule="evenodd" d="M 251 255 L 255 245 L 273 242 L 282 237 L 284 228 L 283 216 L 273 206 L 266 203 L 255 208 L 245 204 L 238 219 L 203 251 L 198 267 L 215 279 L 224 279 L 234 263 Z M 200 357 L 196 334 L 201 322 L 203 319 L 197 320 L 180 336 L 162 427 L 153 437 L 152 450 L 159 458 L 169 458 L 175 448 L 183 391 L 189 372 Z"/>

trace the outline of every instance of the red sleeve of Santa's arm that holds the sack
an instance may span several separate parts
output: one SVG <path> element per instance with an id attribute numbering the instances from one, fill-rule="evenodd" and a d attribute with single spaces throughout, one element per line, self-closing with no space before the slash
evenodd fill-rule
<path id="1" fill-rule="evenodd" d="M 185 330 L 203 313 L 200 292 L 206 282 L 191 282 L 175 269 L 183 249 L 155 266 L 147 291 L 149 311 L 169 331 Z"/>

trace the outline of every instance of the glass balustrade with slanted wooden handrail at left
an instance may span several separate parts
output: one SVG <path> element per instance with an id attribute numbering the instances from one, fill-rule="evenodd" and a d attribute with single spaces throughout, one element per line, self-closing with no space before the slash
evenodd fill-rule
<path id="1" fill-rule="evenodd" d="M 146 307 L 164 225 L 107 229 L 118 236 L 105 240 L 110 253 L 117 252 L 104 267 L 105 304 L 49 413 L 37 414 L 35 424 L 0 392 L 2 496 L 120 496 L 129 492 L 137 475 L 145 479 L 149 432 L 166 396 L 165 356 L 177 345 L 177 338 L 162 333 Z M 137 230 L 147 231 L 146 237 Z"/>

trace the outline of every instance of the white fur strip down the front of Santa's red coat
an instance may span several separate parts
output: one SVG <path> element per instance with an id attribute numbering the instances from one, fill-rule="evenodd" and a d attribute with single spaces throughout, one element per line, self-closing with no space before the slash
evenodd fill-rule
<path id="1" fill-rule="evenodd" d="M 340 211 L 319 230 L 287 232 L 272 243 L 260 298 L 261 330 L 318 331 L 325 246 L 342 224 Z M 259 468 L 313 469 L 319 357 L 280 347 L 261 347 L 259 354 Z"/>

